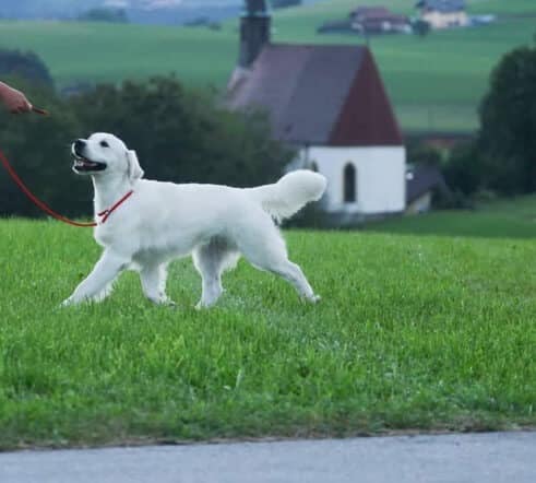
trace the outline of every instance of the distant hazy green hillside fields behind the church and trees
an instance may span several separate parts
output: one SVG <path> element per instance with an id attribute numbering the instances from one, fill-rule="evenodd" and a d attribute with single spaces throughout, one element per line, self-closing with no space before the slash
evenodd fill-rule
<path id="1" fill-rule="evenodd" d="M 323 21 L 341 19 L 359 3 L 385 2 L 333 0 L 276 12 L 274 40 L 361 44 L 361 38 L 352 35 L 315 34 Z M 414 3 L 394 0 L 390 5 L 413 14 Z M 433 33 L 424 39 L 404 35 L 371 39 L 405 130 L 474 129 L 476 108 L 492 67 L 505 51 L 533 42 L 534 1 L 481 0 L 469 2 L 469 9 L 507 16 L 487 27 Z M 139 25 L 0 23 L 0 46 L 38 52 L 59 86 L 176 72 L 191 85 L 223 87 L 237 58 L 237 39 L 236 21 L 216 32 Z"/>

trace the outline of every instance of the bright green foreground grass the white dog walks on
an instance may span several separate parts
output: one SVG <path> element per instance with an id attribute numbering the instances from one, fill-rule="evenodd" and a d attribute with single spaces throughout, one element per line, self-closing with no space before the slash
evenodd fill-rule
<path id="1" fill-rule="evenodd" d="M 290 232 L 323 296 L 240 262 L 214 309 L 172 264 L 178 309 L 123 275 L 59 309 L 90 231 L 0 222 L 0 448 L 534 426 L 532 240 Z"/>

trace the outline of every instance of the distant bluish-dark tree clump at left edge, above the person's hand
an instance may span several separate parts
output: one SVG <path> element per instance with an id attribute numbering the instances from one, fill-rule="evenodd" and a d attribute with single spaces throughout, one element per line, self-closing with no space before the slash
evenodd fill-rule
<path id="1" fill-rule="evenodd" d="M 0 49 L 0 79 L 19 76 L 32 83 L 53 86 L 47 66 L 34 52 Z"/>

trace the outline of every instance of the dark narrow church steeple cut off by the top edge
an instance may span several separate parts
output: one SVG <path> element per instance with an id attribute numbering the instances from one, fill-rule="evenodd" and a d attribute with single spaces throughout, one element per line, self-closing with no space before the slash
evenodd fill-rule
<path id="1" fill-rule="evenodd" d="M 240 17 L 240 57 L 238 66 L 249 69 L 262 48 L 270 43 L 271 17 L 266 0 L 246 0 Z"/>

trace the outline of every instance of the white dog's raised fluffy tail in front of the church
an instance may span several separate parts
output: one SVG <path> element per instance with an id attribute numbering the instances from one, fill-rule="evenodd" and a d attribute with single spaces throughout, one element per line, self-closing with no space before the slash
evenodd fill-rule
<path id="1" fill-rule="evenodd" d="M 251 196 L 274 220 L 287 219 L 310 201 L 319 200 L 325 191 L 324 176 L 298 169 L 283 176 L 276 184 L 251 188 Z"/>

